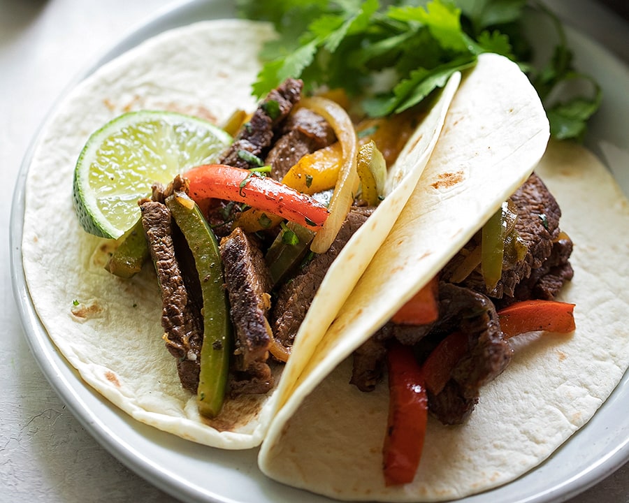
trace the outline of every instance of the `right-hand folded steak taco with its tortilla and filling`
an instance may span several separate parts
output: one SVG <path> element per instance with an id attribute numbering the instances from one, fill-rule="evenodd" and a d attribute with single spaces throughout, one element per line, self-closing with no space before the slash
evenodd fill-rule
<path id="1" fill-rule="evenodd" d="M 400 218 L 282 395 L 259 454 L 273 479 L 339 500 L 480 493 L 548 458 L 626 372 L 628 201 L 574 144 L 510 175 L 533 151 L 503 143 L 530 136 L 515 116 L 513 137 L 494 122 L 518 110 L 521 82 L 499 64 L 482 57 L 463 76 Z M 435 302 L 428 321 L 404 312 L 418 292 Z"/>

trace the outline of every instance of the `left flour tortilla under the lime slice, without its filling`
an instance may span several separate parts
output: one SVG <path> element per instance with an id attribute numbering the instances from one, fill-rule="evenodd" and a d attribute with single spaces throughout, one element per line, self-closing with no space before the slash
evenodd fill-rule
<path id="1" fill-rule="evenodd" d="M 72 207 L 73 168 L 90 134 L 129 110 L 173 110 L 217 124 L 237 109 L 253 110 L 257 54 L 273 36 L 269 24 L 199 22 L 123 54 L 59 106 L 36 146 L 26 182 L 24 273 L 52 341 L 87 384 L 133 418 L 222 449 L 260 444 L 275 410 L 273 392 L 228 400 L 212 421 L 199 416 L 196 397 L 182 389 L 161 337 L 161 296 L 151 265 L 130 281 L 103 269 L 114 242 L 80 228 Z M 435 147 L 458 80 L 455 75 L 426 111 L 400 155 L 392 171 L 396 188 L 333 263 L 313 302 L 319 323 L 331 323 L 393 226 Z M 312 349 L 295 347 L 291 361 L 307 360 Z M 280 379 L 280 372 L 276 381 L 291 379 Z"/>

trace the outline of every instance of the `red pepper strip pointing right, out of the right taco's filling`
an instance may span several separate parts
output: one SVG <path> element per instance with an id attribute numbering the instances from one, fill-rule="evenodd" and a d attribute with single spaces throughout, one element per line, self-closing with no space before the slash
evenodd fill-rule
<path id="1" fill-rule="evenodd" d="M 521 333 L 569 333 L 574 324 L 574 304 L 556 300 L 523 300 L 498 311 L 500 329 L 507 337 Z"/>

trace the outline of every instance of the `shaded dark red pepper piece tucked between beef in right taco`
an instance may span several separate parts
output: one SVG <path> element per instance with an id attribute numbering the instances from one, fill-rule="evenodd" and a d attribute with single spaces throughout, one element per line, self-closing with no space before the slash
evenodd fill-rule
<path id="1" fill-rule="evenodd" d="M 450 379 L 450 374 L 458 360 L 468 352 L 468 336 L 454 332 L 442 340 L 428 355 L 421 366 L 424 371 L 426 389 L 437 395 Z"/>

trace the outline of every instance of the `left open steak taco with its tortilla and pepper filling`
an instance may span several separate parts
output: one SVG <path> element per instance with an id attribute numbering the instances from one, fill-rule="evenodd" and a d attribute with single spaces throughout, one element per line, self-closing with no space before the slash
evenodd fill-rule
<path id="1" fill-rule="evenodd" d="M 296 377 L 282 376 L 284 361 L 309 360 L 312 342 L 300 348 L 298 341 L 333 321 L 377 253 L 460 80 L 454 74 L 409 110 L 382 144 L 376 133 L 386 131 L 384 122 L 355 126 L 330 97 L 305 96 L 299 80 L 256 103 L 257 53 L 273 36 L 263 23 L 200 22 L 111 61 L 50 119 L 26 184 L 24 272 L 36 312 L 68 363 L 138 421 L 224 449 L 262 441 L 278 383 Z M 95 204 L 78 166 L 92 156 L 110 173 L 109 154 L 93 152 L 96 139 L 159 114 L 231 124 L 234 138 L 201 166 L 179 161 L 174 179 L 141 180 L 152 192 L 138 201 L 139 227 L 118 238 L 90 224 L 94 212 L 84 210 Z M 137 148 L 138 156 L 147 150 Z M 168 162 L 172 150 L 164 149 Z M 326 187 L 312 170 L 317 156 L 336 164 Z M 298 165 L 303 171 L 292 169 Z M 291 176 L 299 189 L 285 181 Z M 113 192 L 116 175 L 104 178 L 99 183 Z M 150 258 L 120 273 L 113 259 L 129 235 Z M 220 388 L 216 401 L 208 398 L 212 386 Z"/>

